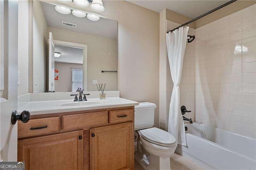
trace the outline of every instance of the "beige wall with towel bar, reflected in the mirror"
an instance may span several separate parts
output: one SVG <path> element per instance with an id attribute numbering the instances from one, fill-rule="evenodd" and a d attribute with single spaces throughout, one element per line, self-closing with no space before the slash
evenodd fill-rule
<path id="1" fill-rule="evenodd" d="M 117 41 L 116 39 L 82 34 L 58 28 L 48 27 L 54 40 L 87 44 L 87 91 L 97 91 L 98 83 L 106 83 L 106 91 L 117 90 L 117 74 L 102 73 L 101 70 L 117 70 Z"/>

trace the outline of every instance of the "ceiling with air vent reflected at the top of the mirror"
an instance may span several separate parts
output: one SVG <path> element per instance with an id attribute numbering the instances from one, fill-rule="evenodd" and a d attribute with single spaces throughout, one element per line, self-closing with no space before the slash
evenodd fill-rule
<path id="1" fill-rule="evenodd" d="M 68 15 L 60 14 L 52 4 L 45 2 L 41 2 L 41 4 L 49 27 L 117 39 L 117 21 L 106 18 L 100 18 L 98 21 L 90 21 L 86 17 L 78 18 L 73 16 L 72 13 Z M 76 28 L 62 26 L 62 21 L 77 24 Z"/>

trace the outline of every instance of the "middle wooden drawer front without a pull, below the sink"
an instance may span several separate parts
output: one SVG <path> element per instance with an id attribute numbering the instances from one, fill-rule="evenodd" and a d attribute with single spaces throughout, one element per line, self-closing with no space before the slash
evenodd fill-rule
<path id="1" fill-rule="evenodd" d="M 62 129 L 88 127 L 108 123 L 108 111 L 62 116 Z"/>

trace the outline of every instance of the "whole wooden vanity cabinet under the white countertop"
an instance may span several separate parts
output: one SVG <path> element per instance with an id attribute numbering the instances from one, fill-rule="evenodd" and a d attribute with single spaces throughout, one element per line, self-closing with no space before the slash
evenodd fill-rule
<path id="1" fill-rule="evenodd" d="M 18 122 L 26 170 L 133 170 L 134 107 L 31 115 Z"/>

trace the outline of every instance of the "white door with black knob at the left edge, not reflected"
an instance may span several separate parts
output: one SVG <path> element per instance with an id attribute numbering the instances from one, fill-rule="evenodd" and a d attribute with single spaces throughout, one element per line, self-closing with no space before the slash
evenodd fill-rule
<path id="1" fill-rule="evenodd" d="M 17 161 L 18 1 L 0 0 L 0 161 Z"/>

